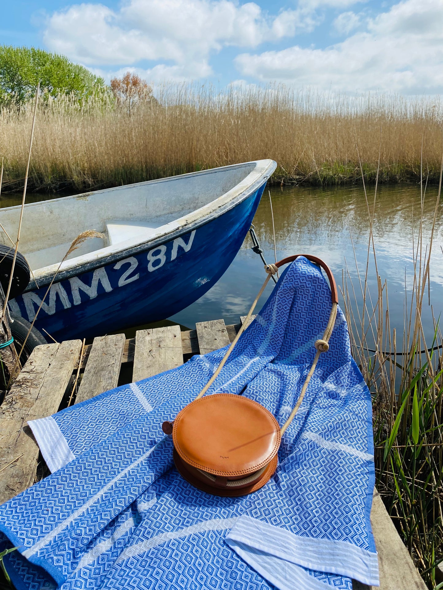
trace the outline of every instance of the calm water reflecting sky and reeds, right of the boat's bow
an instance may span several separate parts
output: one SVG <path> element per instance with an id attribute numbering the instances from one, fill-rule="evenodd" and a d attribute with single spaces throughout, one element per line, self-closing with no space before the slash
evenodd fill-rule
<path id="1" fill-rule="evenodd" d="M 345 188 L 285 188 L 271 191 L 275 218 L 277 258 L 298 253 L 315 254 L 331 267 L 337 285 L 342 284 L 343 269 L 348 268 L 353 279 L 359 309 L 362 297 L 356 271 L 363 277 L 366 268 L 369 241 L 369 214 L 361 186 Z M 432 219 L 434 217 L 437 188 L 426 191 L 422 252 L 429 248 Z M 368 189 L 372 211 L 373 188 Z M 379 187 L 374 210 L 374 245 L 377 268 L 382 281 L 387 280 L 391 327 L 396 327 L 398 347 L 403 333 L 403 309 L 405 283 L 408 304 L 413 283 L 413 240 L 416 240 L 420 218 L 420 188 L 418 185 L 389 185 Z M 253 223 L 265 258 L 273 262 L 271 209 L 267 191 L 263 194 Z M 438 317 L 443 307 L 443 208 L 439 205 L 437 228 L 432 245 L 430 299 L 434 315 Z M 226 323 L 236 323 L 239 316 L 249 310 L 265 273 L 258 255 L 250 247 L 249 235 L 230 268 L 206 295 L 196 303 L 176 314 L 174 319 L 193 327 L 196 322 L 222 318 Z M 416 243 L 415 243 L 416 247 Z M 370 282 L 372 294 L 377 292 L 373 256 L 370 257 Z M 272 290 L 267 287 L 257 309 Z M 265 297 L 266 296 L 266 297 Z M 432 339 L 431 309 L 424 306 L 423 318 L 426 336 Z"/>

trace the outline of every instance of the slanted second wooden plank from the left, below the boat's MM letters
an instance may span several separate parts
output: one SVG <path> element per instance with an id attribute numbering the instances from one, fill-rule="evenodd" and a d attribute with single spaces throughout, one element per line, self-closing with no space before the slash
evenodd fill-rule
<path id="1" fill-rule="evenodd" d="M 76 404 L 117 386 L 125 335 L 98 336 L 92 343 Z"/>

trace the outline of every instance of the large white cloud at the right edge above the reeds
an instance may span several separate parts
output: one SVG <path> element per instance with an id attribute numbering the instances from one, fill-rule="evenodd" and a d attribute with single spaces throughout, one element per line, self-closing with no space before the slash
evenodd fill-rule
<path id="1" fill-rule="evenodd" d="M 405 0 L 369 19 L 357 32 L 326 49 L 301 48 L 238 55 L 243 76 L 340 91 L 443 90 L 443 4 Z"/>

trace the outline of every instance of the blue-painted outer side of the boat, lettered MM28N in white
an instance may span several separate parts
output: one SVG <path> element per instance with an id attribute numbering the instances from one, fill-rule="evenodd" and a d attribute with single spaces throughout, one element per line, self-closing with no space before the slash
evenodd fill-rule
<path id="1" fill-rule="evenodd" d="M 165 319 L 203 296 L 239 251 L 266 181 L 235 207 L 174 240 L 122 253 L 99 268 L 27 291 L 12 312 L 61 342 Z"/>

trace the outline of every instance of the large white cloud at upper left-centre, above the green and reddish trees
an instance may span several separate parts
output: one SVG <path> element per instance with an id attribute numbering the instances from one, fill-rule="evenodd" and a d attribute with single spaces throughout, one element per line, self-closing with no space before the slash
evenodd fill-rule
<path id="1" fill-rule="evenodd" d="M 237 0 L 126 0 L 118 10 L 76 4 L 48 17 L 44 42 L 91 68 L 137 67 L 147 60 L 154 62 L 144 70 L 149 79 L 201 78 L 211 75 L 210 56 L 223 47 L 254 49 L 311 32 L 322 9 L 360 1 L 299 0 L 273 16 L 255 2 Z"/>

